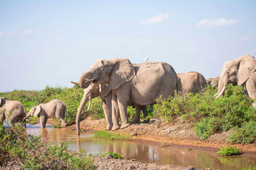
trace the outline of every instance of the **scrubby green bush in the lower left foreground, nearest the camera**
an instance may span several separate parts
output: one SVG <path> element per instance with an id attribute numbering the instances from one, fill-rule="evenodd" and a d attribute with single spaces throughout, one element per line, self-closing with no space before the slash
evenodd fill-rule
<path id="1" fill-rule="evenodd" d="M 43 145 L 40 136 L 28 135 L 19 124 L 7 128 L 0 125 L 0 166 L 9 163 L 26 169 L 96 169 L 86 152 L 70 152 L 66 142 L 52 141 Z"/>

